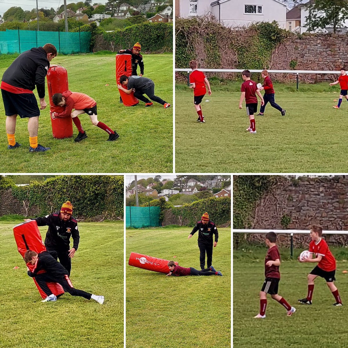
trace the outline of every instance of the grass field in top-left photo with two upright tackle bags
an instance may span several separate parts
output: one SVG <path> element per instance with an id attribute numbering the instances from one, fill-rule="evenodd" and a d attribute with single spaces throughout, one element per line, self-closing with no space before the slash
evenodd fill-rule
<path id="1" fill-rule="evenodd" d="M 0 56 L 0 76 L 14 55 Z M 173 105 L 173 55 L 144 55 L 145 77 L 155 82 L 155 94 Z M 41 111 L 38 142 L 50 147 L 46 153 L 29 153 L 27 120 L 17 117 L 16 141 L 19 149 L 7 150 L 5 111 L 0 101 L 0 168 L 3 173 L 147 173 L 173 171 L 173 108 L 155 103 L 145 108 L 119 103 L 115 79 L 115 54 L 57 56 L 52 64 L 68 70 L 69 89 L 88 94 L 97 102 L 98 120 L 116 130 L 120 137 L 109 142 L 108 134 L 92 125 L 87 114 L 79 118 L 88 138 L 74 143 L 52 136 L 49 106 Z M 105 86 L 109 84 L 109 86 Z M 35 96 L 38 96 L 36 90 Z M 49 98 L 46 83 L 46 103 Z"/>

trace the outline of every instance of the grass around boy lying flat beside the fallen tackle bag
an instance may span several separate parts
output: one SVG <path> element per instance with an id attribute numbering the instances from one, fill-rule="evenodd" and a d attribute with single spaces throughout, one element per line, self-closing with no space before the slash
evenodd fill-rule
<path id="1" fill-rule="evenodd" d="M 126 231 L 126 347 L 227 348 L 231 344 L 231 229 L 219 229 L 213 266 L 223 277 L 166 277 L 128 266 L 130 252 L 199 267 L 191 228 Z M 173 258 L 176 256 L 176 258 Z"/>

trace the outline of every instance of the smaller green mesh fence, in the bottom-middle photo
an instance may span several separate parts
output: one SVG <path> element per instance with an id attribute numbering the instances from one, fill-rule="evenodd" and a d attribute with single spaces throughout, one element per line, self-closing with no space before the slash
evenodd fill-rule
<path id="1" fill-rule="evenodd" d="M 126 206 L 126 227 L 160 226 L 159 207 Z"/>

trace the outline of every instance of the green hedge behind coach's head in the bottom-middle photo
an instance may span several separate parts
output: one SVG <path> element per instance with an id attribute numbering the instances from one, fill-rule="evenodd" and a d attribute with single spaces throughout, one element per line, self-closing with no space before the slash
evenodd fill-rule
<path id="1" fill-rule="evenodd" d="M 230 197 L 210 197 L 200 199 L 191 204 L 184 204 L 181 207 L 173 207 L 172 213 L 188 220 L 188 226 L 194 226 L 201 216 L 208 212 L 209 218 L 216 225 L 231 223 L 231 198 Z"/>

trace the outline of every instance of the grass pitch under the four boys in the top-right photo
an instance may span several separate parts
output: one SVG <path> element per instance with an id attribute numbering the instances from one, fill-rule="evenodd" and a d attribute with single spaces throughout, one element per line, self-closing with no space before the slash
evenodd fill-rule
<path id="1" fill-rule="evenodd" d="M 296 92 L 294 85 L 275 84 L 275 101 L 286 109 L 286 116 L 268 104 L 265 116 L 256 116 L 257 134 L 246 132 L 249 120 L 245 102 L 242 110 L 238 108 L 239 91 L 240 83 L 213 83 L 213 94 L 201 104 L 206 123 L 198 124 L 191 90 L 176 86 L 176 172 L 347 171 L 348 158 L 341 145 L 346 142 L 346 130 L 340 125 L 346 123 L 348 103 L 343 100 L 340 110 L 332 108 L 339 87 L 300 85 Z"/>

